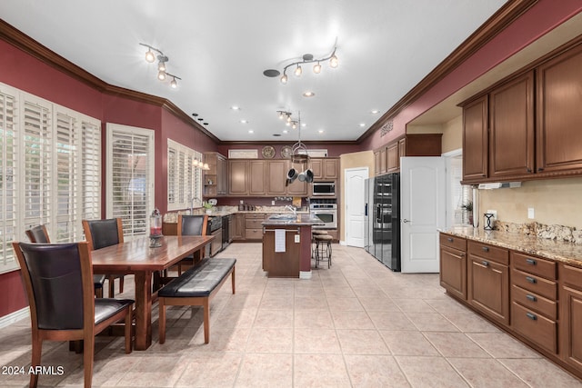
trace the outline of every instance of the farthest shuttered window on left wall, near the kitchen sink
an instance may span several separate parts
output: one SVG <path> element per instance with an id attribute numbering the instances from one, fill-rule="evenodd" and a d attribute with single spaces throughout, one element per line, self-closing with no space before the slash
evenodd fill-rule
<path id="1" fill-rule="evenodd" d="M 202 154 L 167 139 L 167 210 L 202 204 L 202 172 L 195 160 L 202 161 Z"/>

